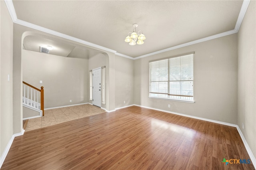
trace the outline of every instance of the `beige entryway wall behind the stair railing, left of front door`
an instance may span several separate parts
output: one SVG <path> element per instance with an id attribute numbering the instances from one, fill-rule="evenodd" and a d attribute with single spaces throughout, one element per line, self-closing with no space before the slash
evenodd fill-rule
<path id="1" fill-rule="evenodd" d="M 23 49 L 22 68 L 23 81 L 44 87 L 45 108 L 88 103 L 88 59 Z"/>

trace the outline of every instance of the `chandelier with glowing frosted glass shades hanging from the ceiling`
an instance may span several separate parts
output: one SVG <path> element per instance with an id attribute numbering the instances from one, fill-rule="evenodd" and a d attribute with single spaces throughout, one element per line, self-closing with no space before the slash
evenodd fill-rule
<path id="1" fill-rule="evenodd" d="M 133 24 L 132 25 L 134 27 L 133 32 L 129 32 L 128 36 L 125 38 L 125 42 L 128 42 L 129 45 L 136 45 L 139 44 L 144 44 L 144 41 L 146 39 L 146 37 L 144 36 L 144 34 L 142 34 L 142 31 L 138 31 L 138 33 L 136 32 L 136 27 L 138 27 L 138 24 Z M 131 35 L 129 36 L 129 34 L 131 33 Z"/>

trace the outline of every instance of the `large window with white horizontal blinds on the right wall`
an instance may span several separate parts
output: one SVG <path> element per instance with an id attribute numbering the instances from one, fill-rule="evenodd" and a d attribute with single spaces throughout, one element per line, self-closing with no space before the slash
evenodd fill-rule
<path id="1" fill-rule="evenodd" d="M 194 102 L 194 52 L 149 62 L 149 97 Z"/>

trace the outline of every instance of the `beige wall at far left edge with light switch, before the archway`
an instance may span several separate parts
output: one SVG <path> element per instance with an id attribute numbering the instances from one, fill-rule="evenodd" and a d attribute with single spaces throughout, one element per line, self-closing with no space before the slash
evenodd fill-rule
<path id="1" fill-rule="evenodd" d="M 13 23 L 4 1 L 0 1 L 0 155 L 13 135 L 12 52 Z M 8 81 L 8 74 L 10 81 Z"/>

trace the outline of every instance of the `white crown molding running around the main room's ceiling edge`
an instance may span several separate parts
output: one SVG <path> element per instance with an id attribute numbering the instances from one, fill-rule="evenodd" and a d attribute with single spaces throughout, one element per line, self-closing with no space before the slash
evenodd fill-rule
<path id="1" fill-rule="evenodd" d="M 243 1 L 243 4 L 242 4 L 241 10 L 240 10 L 240 13 L 238 15 L 238 19 L 236 21 L 236 26 L 235 26 L 234 30 L 230 30 L 230 31 L 223 32 L 223 33 L 220 33 L 220 34 L 216 34 L 216 35 L 213 35 L 213 36 L 209 36 L 209 37 L 206 37 L 206 38 L 201 38 L 199 40 L 194 40 L 192 42 L 183 43 L 183 44 L 180 44 L 180 45 L 176 45 L 176 46 L 169 47 L 169 48 L 166 48 L 166 49 L 162 49 L 162 50 L 159 50 L 159 51 L 155 51 L 155 52 L 152 52 L 152 53 L 141 55 L 141 56 L 138 56 L 138 57 L 130 57 L 128 55 L 124 55 L 124 54 L 118 53 L 117 51 L 115 51 L 113 49 L 109 49 L 109 48 L 106 48 L 106 47 L 103 47 L 103 46 L 100 46 L 100 45 L 97 45 L 97 44 L 94 44 L 94 43 L 90 43 L 90 42 L 81 40 L 79 38 L 74 38 L 72 36 L 68 36 L 66 34 L 62 34 L 60 32 L 56 32 L 56 31 L 53 31 L 53 30 L 50 30 L 50 29 L 47 29 L 47 28 L 44 28 L 44 27 L 41 27 L 41 26 L 37 26 L 35 24 L 31 24 L 31 23 L 23 21 L 23 20 L 19 20 L 17 18 L 17 15 L 16 15 L 16 12 L 15 12 L 12 0 L 4 0 L 4 1 L 6 3 L 8 11 L 10 13 L 10 16 L 12 18 L 12 21 L 14 23 L 16 23 L 16 24 L 20 24 L 22 26 L 26 26 L 26 27 L 29 27 L 29 28 L 33 28 L 35 30 L 46 32 L 46 33 L 52 34 L 54 36 L 66 38 L 68 40 L 72 40 L 74 42 L 82 43 L 82 44 L 88 45 L 90 47 L 95 47 L 95 48 L 98 48 L 98 49 L 102 49 L 104 51 L 109 51 L 109 52 L 114 53 L 115 55 L 119 55 L 121 57 L 126 57 L 128 59 L 133 59 L 133 60 L 144 58 L 144 57 L 148 57 L 148 56 L 159 54 L 159 53 L 163 53 L 163 52 L 166 52 L 166 51 L 171 51 L 173 49 L 177 49 L 177 48 L 181 48 L 181 47 L 186 47 L 188 45 L 193 45 L 193 44 L 196 44 L 196 43 L 205 42 L 205 41 L 212 40 L 212 39 L 215 39 L 215 38 L 220 38 L 220 37 L 228 36 L 230 34 L 235 34 L 235 33 L 238 32 L 238 30 L 239 30 L 239 28 L 240 28 L 240 26 L 242 24 L 242 20 L 244 18 L 244 15 L 245 15 L 246 10 L 247 10 L 247 8 L 249 6 L 249 3 L 250 3 L 250 0 L 244 0 Z"/>

